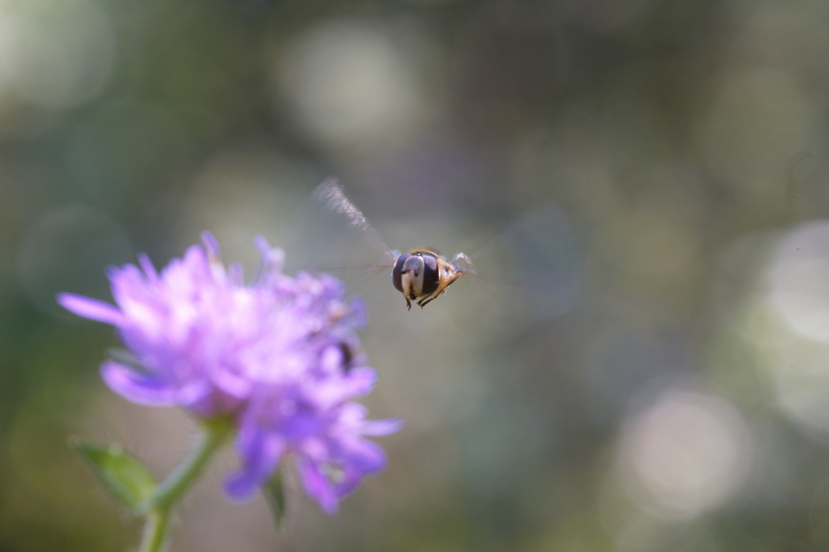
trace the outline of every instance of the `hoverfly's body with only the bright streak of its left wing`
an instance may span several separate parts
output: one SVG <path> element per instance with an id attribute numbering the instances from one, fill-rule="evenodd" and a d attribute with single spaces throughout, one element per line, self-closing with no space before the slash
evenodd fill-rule
<path id="1" fill-rule="evenodd" d="M 391 282 L 403 294 L 411 310 L 412 301 L 422 309 L 438 296 L 446 293 L 461 276 L 474 274 L 473 263 L 464 253 L 451 259 L 429 247 L 419 247 L 405 253 L 385 247 L 379 234 L 371 227 L 365 215 L 342 191 L 336 178 L 327 178 L 313 191 L 313 200 L 323 211 L 345 217 L 347 225 L 364 237 L 370 237 L 385 253 L 371 268 L 377 273 L 391 269 Z"/>

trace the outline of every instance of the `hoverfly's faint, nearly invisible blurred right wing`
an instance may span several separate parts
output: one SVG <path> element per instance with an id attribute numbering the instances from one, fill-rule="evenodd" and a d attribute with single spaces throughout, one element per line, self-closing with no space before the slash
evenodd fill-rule
<path id="1" fill-rule="evenodd" d="M 521 217 L 471 261 L 461 259 L 458 264 L 478 285 L 516 301 L 533 320 L 564 315 L 574 303 L 581 280 L 572 227 L 555 205 Z"/>

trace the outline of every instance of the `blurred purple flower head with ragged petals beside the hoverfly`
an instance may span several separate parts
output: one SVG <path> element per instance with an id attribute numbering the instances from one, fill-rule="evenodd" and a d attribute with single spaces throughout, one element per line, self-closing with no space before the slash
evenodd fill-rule
<path id="1" fill-rule="evenodd" d="M 293 452 L 303 485 L 323 510 L 337 510 L 363 476 L 381 471 L 385 454 L 364 438 L 395 432 L 396 420 L 368 421 L 351 398 L 371 391 L 355 329 L 366 323 L 361 300 L 346 300 L 341 281 L 282 273 L 284 254 L 264 238 L 259 275 L 245 286 L 239 265 L 227 270 L 219 246 L 190 247 L 161 274 L 148 256 L 109 269 L 117 306 L 64 293 L 67 310 L 114 325 L 141 366 L 108 360 L 101 376 L 133 403 L 182 406 L 202 418 L 226 416 L 238 432 L 240 470 L 226 491 L 244 499 Z"/>

